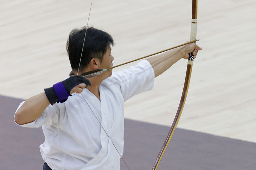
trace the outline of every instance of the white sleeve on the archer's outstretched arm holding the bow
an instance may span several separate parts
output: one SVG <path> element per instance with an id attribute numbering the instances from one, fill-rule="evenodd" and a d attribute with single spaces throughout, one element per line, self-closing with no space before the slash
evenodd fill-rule
<path id="1" fill-rule="evenodd" d="M 112 78 L 119 82 L 115 84 L 120 86 L 126 101 L 138 93 L 151 90 L 154 86 L 155 72 L 147 60 L 142 60 L 129 69 L 113 73 Z"/>

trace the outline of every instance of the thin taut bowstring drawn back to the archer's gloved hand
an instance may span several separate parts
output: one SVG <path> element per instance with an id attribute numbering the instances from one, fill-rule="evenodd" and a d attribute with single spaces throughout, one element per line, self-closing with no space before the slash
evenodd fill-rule
<path id="1" fill-rule="evenodd" d="M 93 0 L 92 0 L 93 1 Z M 91 14 L 91 9 L 92 9 L 92 1 L 91 1 L 91 6 L 90 6 L 90 11 L 89 11 L 89 15 L 88 15 L 88 20 L 87 20 L 87 25 L 86 25 L 86 29 L 85 29 L 85 34 L 84 34 L 84 42 L 85 42 L 85 37 L 86 37 L 86 33 L 87 33 L 87 29 L 88 29 L 88 23 L 89 23 L 89 18 L 90 18 L 90 14 Z M 77 70 L 77 76 L 79 73 L 79 68 L 81 65 L 81 60 L 82 60 L 82 55 L 83 55 L 83 50 L 84 50 L 84 42 L 83 42 L 83 47 L 82 47 L 82 52 L 81 52 L 81 56 L 80 56 L 80 61 L 79 61 L 79 65 L 78 65 L 78 70 Z M 82 95 L 82 94 L 81 94 Z M 83 95 L 82 95 L 83 96 Z M 83 96 L 84 98 L 84 96 Z M 85 100 L 85 98 L 84 98 Z M 85 100 L 85 102 L 87 103 L 87 101 Z M 88 103 L 87 103 L 88 104 Z M 88 105 L 89 106 L 89 105 Z M 92 108 L 90 107 L 90 109 L 92 110 Z M 97 119 L 97 121 L 100 123 L 100 120 L 97 118 L 97 116 L 94 114 L 94 112 L 92 111 L 93 115 L 95 116 L 95 118 Z M 116 145 L 113 143 L 113 141 L 111 140 L 111 138 L 109 137 L 108 133 L 106 132 L 106 130 L 103 128 L 102 124 L 100 123 L 101 128 L 104 130 L 104 132 L 106 133 L 106 135 L 108 136 L 109 140 L 111 141 L 111 143 L 113 144 L 113 146 L 115 147 L 117 153 L 119 154 L 119 156 L 121 157 L 121 159 L 124 161 L 124 158 L 122 157 L 122 155 L 120 154 L 120 152 L 117 150 Z M 126 167 L 130 170 L 129 166 L 126 164 L 126 162 L 124 161 L 124 164 L 126 165 Z"/>

